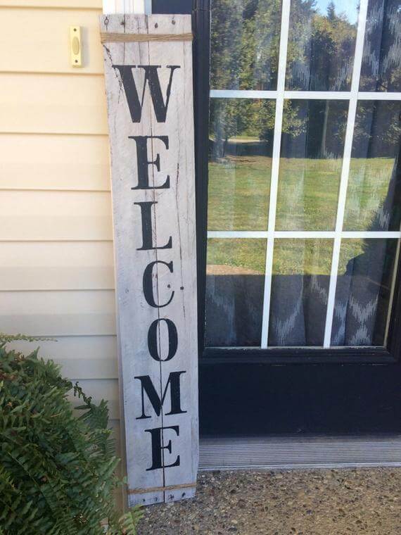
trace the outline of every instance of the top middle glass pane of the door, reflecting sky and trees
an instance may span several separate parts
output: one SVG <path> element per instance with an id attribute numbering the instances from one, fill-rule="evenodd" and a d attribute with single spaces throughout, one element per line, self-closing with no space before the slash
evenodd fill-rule
<path id="1" fill-rule="evenodd" d="M 291 1 L 287 89 L 350 89 L 358 4 L 357 0 Z"/>

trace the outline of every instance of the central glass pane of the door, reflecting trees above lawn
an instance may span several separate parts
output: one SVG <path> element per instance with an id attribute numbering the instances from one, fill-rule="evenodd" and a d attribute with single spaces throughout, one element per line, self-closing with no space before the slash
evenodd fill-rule
<path id="1" fill-rule="evenodd" d="M 348 101 L 285 101 L 277 230 L 336 225 Z"/>

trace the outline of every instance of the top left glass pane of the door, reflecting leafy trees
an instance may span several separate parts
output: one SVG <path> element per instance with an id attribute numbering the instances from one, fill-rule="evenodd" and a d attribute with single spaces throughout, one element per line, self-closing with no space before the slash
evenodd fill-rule
<path id="1" fill-rule="evenodd" d="M 212 0 L 212 89 L 277 86 L 281 0 Z"/>

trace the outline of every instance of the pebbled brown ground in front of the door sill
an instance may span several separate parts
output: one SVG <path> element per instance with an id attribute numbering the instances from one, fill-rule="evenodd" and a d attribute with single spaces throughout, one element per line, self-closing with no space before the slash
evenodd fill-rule
<path id="1" fill-rule="evenodd" d="M 401 468 L 201 472 L 192 500 L 146 508 L 138 535 L 400 535 Z"/>

